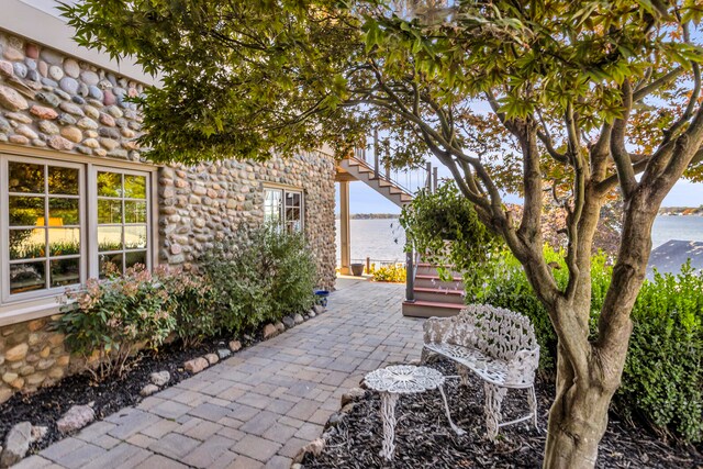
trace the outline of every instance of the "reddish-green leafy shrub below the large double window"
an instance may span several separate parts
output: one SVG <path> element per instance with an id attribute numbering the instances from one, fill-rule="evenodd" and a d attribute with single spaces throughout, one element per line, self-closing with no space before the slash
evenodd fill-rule
<path id="1" fill-rule="evenodd" d="M 157 348 L 176 327 L 165 276 L 164 270 L 150 273 L 137 265 L 124 276 L 91 279 L 85 289 L 66 293 L 56 328 L 97 380 L 121 376 L 137 359 L 140 347 Z"/>

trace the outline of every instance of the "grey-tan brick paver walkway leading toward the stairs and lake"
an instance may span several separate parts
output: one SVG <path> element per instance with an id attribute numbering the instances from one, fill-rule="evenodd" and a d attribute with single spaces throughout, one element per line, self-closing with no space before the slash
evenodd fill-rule
<path id="1" fill-rule="evenodd" d="M 339 398 L 383 364 L 420 357 L 404 286 L 360 282 L 326 313 L 58 442 L 18 468 L 289 468 Z"/>

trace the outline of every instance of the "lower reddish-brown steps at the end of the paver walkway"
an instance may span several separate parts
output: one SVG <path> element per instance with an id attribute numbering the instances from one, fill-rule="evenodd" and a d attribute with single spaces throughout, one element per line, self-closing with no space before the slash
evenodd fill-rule
<path id="1" fill-rule="evenodd" d="M 464 282 L 459 273 L 451 275 L 451 281 L 442 281 L 435 266 L 419 264 L 412 288 L 414 301 L 403 301 L 403 315 L 447 317 L 458 314 L 464 308 Z"/>

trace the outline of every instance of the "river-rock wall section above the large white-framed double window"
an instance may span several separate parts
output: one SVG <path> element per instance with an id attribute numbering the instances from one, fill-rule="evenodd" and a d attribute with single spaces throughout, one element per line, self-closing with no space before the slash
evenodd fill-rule
<path id="1" fill-rule="evenodd" d="M 143 86 L 0 32 L 0 142 L 140 160 Z"/>

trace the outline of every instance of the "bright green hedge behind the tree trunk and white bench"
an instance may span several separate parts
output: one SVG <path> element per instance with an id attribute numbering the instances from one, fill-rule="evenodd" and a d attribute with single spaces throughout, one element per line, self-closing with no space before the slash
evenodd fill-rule
<path id="1" fill-rule="evenodd" d="M 553 272 L 563 288 L 568 272 L 562 255 L 547 248 L 545 256 L 556 263 Z M 592 334 L 612 275 L 604 255 L 592 259 Z M 540 368 L 553 372 L 557 337 L 520 263 L 510 253 L 501 253 L 484 266 L 482 276 L 480 284 L 467 282 L 467 301 L 528 316 L 542 349 Z M 703 276 L 690 264 L 677 276 L 657 273 L 654 281 L 645 281 L 632 320 L 633 335 L 613 409 L 625 417 L 644 417 L 658 432 L 703 440 Z"/>

